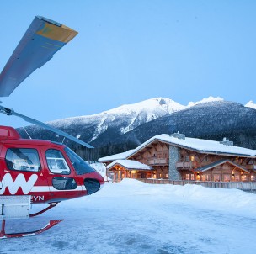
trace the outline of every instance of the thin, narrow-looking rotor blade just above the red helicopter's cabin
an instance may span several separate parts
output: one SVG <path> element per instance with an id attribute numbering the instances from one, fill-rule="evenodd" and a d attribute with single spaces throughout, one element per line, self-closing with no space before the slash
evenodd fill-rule
<path id="1" fill-rule="evenodd" d="M 15 112 L 13 109 L 5 108 L 5 107 L 0 105 L 0 112 L 3 113 L 3 114 L 7 114 L 7 115 L 18 116 L 18 117 L 24 119 L 26 122 L 29 122 L 30 124 L 36 124 L 40 127 L 45 128 L 46 130 L 51 130 L 52 132 L 55 132 L 58 135 L 62 135 L 64 137 L 66 137 L 67 139 L 72 140 L 72 141 L 74 141 L 74 142 L 76 142 L 76 143 L 78 143 L 82 146 L 86 146 L 88 148 L 93 148 L 93 146 L 89 145 L 88 143 L 85 143 L 82 140 L 78 140 L 77 138 L 73 137 L 72 135 L 67 134 L 66 132 L 64 132 L 62 130 L 58 130 L 56 128 L 53 128 L 48 124 L 42 123 L 42 122 L 40 122 L 39 120 L 36 120 L 36 119 L 32 119 L 28 116 L 25 116 L 24 114 L 19 114 L 19 113 Z"/>

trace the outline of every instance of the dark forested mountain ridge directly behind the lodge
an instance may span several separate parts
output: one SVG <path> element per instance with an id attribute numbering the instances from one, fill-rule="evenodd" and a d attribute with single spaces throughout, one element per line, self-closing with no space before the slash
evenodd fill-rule
<path id="1" fill-rule="evenodd" d="M 154 135 L 179 131 L 189 137 L 222 140 L 227 137 L 235 146 L 256 148 L 256 111 L 239 103 L 215 101 L 200 103 L 173 114 L 141 124 L 118 142 L 133 140 L 140 145 Z"/>

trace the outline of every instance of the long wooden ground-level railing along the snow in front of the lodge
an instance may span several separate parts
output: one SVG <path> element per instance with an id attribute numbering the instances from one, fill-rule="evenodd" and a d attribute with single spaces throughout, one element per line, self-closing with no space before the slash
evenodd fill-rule
<path id="1" fill-rule="evenodd" d="M 209 188 L 237 188 L 244 191 L 256 191 L 256 182 L 206 182 L 206 181 L 187 181 L 177 180 L 172 181 L 168 179 L 137 179 L 144 183 L 153 184 L 173 184 L 173 185 L 185 185 L 196 184 Z"/>

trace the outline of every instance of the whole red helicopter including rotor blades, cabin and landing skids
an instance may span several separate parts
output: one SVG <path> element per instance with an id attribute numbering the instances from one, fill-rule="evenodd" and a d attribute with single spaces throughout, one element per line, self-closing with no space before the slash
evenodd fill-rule
<path id="1" fill-rule="evenodd" d="M 51 19 L 36 16 L 0 74 L 0 97 L 7 97 L 33 71 L 49 61 L 77 32 Z M 83 146 L 89 144 L 38 120 L 0 105 L 0 112 L 23 118 Z M 0 239 L 36 235 L 61 220 L 50 220 L 40 230 L 6 233 L 7 219 L 24 219 L 44 213 L 70 198 L 96 193 L 104 178 L 67 146 L 48 140 L 22 139 L 17 130 L 0 126 Z M 31 204 L 49 204 L 30 214 Z"/>

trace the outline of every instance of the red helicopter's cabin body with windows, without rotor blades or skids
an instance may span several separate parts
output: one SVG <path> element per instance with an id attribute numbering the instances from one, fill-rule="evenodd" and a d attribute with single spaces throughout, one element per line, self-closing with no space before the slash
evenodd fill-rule
<path id="1" fill-rule="evenodd" d="M 0 126 L 0 197 L 30 195 L 32 202 L 53 203 L 97 192 L 104 178 L 67 146 L 21 139 Z"/>

